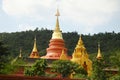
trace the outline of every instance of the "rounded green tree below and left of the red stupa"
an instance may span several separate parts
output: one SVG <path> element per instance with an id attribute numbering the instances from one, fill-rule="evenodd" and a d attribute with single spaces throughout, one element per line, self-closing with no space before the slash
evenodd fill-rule
<path id="1" fill-rule="evenodd" d="M 24 74 L 26 76 L 44 76 L 47 62 L 45 59 L 37 60 L 30 68 L 25 68 Z"/>

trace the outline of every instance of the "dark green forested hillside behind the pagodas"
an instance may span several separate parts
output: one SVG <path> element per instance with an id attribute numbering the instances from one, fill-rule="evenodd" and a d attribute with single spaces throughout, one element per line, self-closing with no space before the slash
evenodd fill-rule
<path id="1" fill-rule="evenodd" d="M 0 33 L 0 41 L 8 47 L 12 56 L 18 56 L 20 48 L 24 57 L 28 57 L 33 48 L 34 37 L 37 39 L 37 48 L 39 54 L 45 55 L 46 48 L 48 48 L 49 41 L 52 37 L 52 30 L 38 29 L 13 32 L 13 33 Z M 66 47 L 68 48 L 68 55 L 71 55 L 78 42 L 79 34 L 77 32 L 63 33 L 63 39 Z M 97 53 L 98 42 L 101 44 L 101 51 L 108 54 L 111 51 L 120 49 L 120 32 L 105 32 L 93 35 L 82 35 L 85 47 L 89 54 Z"/>

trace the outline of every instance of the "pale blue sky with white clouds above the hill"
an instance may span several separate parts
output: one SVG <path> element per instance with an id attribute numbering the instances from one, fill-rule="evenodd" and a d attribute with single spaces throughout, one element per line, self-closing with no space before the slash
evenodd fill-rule
<path id="1" fill-rule="evenodd" d="M 0 32 L 48 28 L 80 34 L 120 32 L 120 0 L 0 0 Z"/>

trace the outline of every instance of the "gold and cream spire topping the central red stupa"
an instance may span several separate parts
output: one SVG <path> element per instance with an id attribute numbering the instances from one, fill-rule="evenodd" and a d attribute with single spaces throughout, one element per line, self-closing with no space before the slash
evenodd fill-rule
<path id="1" fill-rule="evenodd" d="M 60 16 L 60 13 L 59 13 L 58 9 L 57 9 L 57 12 L 56 12 L 55 16 L 57 17 L 57 19 L 56 19 L 56 26 L 55 26 L 55 29 L 54 29 L 53 34 L 52 34 L 52 39 L 63 39 L 61 30 L 60 30 L 60 27 L 59 27 L 58 17 Z"/>

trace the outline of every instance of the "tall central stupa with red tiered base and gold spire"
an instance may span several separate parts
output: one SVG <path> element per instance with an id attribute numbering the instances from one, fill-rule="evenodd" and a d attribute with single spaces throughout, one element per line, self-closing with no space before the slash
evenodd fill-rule
<path id="1" fill-rule="evenodd" d="M 62 32 L 60 31 L 60 27 L 59 27 L 58 17 L 60 16 L 60 14 L 58 9 L 55 16 L 57 16 L 56 27 L 53 31 L 52 38 L 49 43 L 49 48 L 46 49 L 47 54 L 45 56 L 42 56 L 41 58 L 60 59 L 62 50 L 64 50 L 64 53 L 67 54 L 67 48 L 65 48 Z"/>

